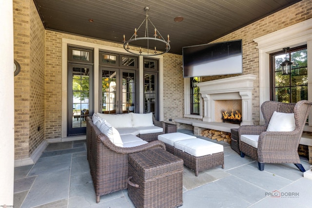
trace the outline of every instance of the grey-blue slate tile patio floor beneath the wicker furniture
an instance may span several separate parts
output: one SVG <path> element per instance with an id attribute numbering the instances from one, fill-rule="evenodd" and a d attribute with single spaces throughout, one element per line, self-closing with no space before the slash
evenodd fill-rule
<path id="1" fill-rule="evenodd" d="M 182 208 L 311 208 L 312 180 L 293 164 L 266 164 L 259 171 L 254 160 L 219 144 L 224 146 L 225 169 L 195 177 L 184 167 Z M 309 170 L 307 159 L 301 161 Z M 127 190 L 101 196 L 96 203 L 85 140 L 49 144 L 35 165 L 15 168 L 14 192 L 15 208 L 134 208 Z"/>

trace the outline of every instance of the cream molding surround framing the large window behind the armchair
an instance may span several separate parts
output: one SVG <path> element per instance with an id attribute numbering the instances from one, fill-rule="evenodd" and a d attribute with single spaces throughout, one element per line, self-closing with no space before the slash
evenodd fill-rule
<path id="1" fill-rule="evenodd" d="M 259 49 L 259 106 L 270 100 L 270 54 L 285 47 L 297 47 L 307 44 L 308 50 L 308 99 L 312 101 L 312 19 L 307 19 L 292 26 L 277 30 L 265 36 L 254 38 Z M 312 118 L 312 113 L 309 114 Z M 260 110 L 260 124 L 264 119 Z M 312 131 L 312 119 L 305 131 Z"/>

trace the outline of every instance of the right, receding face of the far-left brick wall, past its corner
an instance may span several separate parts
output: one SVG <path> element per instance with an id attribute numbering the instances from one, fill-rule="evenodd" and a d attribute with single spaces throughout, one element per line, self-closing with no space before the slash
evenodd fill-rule
<path id="1" fill-rule="evenodd" d="M 44 27 L 30 1 L 29 154 L 44 139 Z"/>

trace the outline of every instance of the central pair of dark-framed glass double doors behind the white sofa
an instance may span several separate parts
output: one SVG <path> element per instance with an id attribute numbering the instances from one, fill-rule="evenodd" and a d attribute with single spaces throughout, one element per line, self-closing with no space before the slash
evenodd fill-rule
<path id="1" fill-rule="evenodd" d="M 100 112 L 137 112 L 137 71 L 103 66 L 100 69 Z"/>

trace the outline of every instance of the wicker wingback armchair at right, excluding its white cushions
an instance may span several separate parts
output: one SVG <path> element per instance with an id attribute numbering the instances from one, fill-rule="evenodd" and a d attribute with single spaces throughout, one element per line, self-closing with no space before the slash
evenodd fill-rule
<path id="1" fill-rule="evenodd" d="M 239 137 L 243 134 L 259 135 L 257 148 L 242 142 L 239 148 L 241 157 L 245 154 L 258 162 L 259 170 L 264 170 L 265 163 L 293 163 L 300 171 L 305 169 L 300 163 L 298 146 L 310 112 L 312 102 L 301 100 L 297 103 L 266 101 L 261 105 L 265 124 L 260 126 L 241 126 Z M 273 112 L 294 113 L 295 129 L 292 132 L 267 132 Z M 283 122 L 283 121 L 281 121 Z"/>

